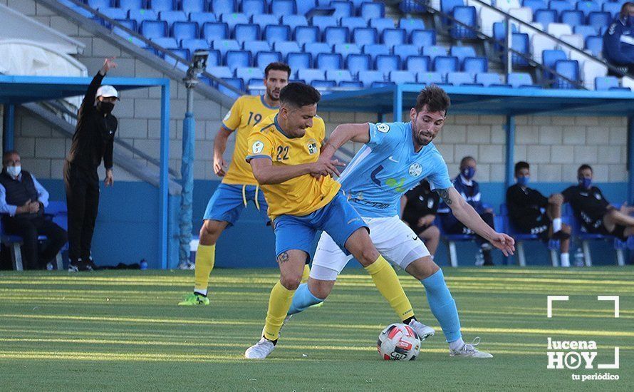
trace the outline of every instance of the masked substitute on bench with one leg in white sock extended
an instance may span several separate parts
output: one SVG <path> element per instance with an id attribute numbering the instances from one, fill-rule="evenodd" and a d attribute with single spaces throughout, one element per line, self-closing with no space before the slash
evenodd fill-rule
<path id="1" fill-rule="evenodd" d="M 546 197 L 528 187 L 531 167 L 526 162 L 515 164 L 517 183 L 506 190 L 506 207 L 509 219 L 520 232 L 536 234 L 541 239 L 558 239 L 561 251 L 561 267 L 570 267 L 570 227 L 561 223 L 560 193 Z"/>

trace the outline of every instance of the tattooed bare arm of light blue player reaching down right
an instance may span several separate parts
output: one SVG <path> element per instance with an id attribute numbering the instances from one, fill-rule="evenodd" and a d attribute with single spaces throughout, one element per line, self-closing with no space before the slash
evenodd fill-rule
<path id="1" fill-rule="evenodd" d="M 436 192 L 442 200 L 452 209 L 454 216 L 465 226 L 472 229 L 480 237 L 487 239 L 494 247 L 502 250 L 504 256 L 509 256 L 515 252 L 515 240 L 504 233 L 496 232 L 487 222 L 484 222 L 480 215 L 464 201 L 456 188 L 437 189 Z"/>

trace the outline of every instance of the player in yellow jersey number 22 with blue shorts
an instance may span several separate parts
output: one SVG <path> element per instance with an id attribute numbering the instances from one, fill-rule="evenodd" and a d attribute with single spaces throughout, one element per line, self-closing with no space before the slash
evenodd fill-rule
<path id="1" fill-rule="evenodd" d="M 415 320 L 394 269 L 333 180 L 342 164 L 319 160 L 326 136 L 323 120 L 316 116 L 320 98 L 311 86 L 289 83 L 281 90 L 279 112 L 262 120 L 249 136 L 246 160 L 269 202 L 280 279 L 271 290 L 263 336 L 246 350 L 247 359 L 265 359 L 273 351 L 318 230 L 330 234 L 345 254 L 353 254 L 403 322 L 428 328 Z"/>

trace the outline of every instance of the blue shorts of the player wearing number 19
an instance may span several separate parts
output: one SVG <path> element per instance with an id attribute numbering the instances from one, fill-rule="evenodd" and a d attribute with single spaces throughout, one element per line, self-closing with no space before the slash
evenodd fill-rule
<path id="1" fill-rule="evenodd" d="M 204 210 L 204 220 L 220 220 L 229 222 L 232 226 L 240 217 L 242 210 L 246 207 L 247 202 L 253 202 L 256 207 L 259 206 L 259 213 L 264 222 L 269 222 L 269 215 L 266 211 L 269 205 L 264 199 L 264 192 L 257 190 L 256 202 L 256 186 L 255 185 L 233 185 L 221 183 L 216 188 L 214 195 L 207 203 L 207 209 Z"/>

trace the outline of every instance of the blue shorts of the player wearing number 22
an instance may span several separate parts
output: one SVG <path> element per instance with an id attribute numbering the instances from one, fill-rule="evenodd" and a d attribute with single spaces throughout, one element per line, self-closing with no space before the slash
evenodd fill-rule
<path id="1" fill-rule="evenodd" d="M 280 215 L 275 218 L 274 225 L 276 258 L 291 249 L 303 250 L 310 255 L 318 230 L 327 232 L 345 254 L 350 254 L 345 249 L 348 237 L 361 227 L 368 229 L 343 192 L 339 192 L 327 205 L 303 217 Z"/>

